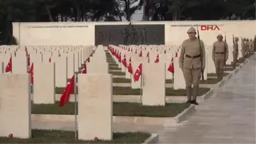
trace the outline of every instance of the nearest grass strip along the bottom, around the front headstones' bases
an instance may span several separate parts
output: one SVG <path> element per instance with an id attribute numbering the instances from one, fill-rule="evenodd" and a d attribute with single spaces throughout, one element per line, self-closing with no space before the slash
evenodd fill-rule
<path id="1" fill-rule="evenodd" d="M 15 136 L 15 135 L 14 135 Z M 81 141 L 75 139 L 75 131 L 56 131 L 56 130 L 38 130 L 32 129 L 31 139 L 17 139 L 9 137 L 0 137 L 3 144 L 29 143 L 29 144 L 141 144 L 151 134 L 136 132 L 136 133 L 113 133 L 112 141 Z"/>

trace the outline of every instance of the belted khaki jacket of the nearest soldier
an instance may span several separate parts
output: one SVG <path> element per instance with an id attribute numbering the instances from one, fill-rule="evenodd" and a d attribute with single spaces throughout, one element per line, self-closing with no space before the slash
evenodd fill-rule
<path id="1" fill-rule="evenodd" d="M 201 69 L 201 57 L 203 59 L 203 68 L 205 68 L 205 45 L 203 41 L 196 39 L 186 39 L 181 45 L 181 53 L 179 56 L 179 67 L 187 69 Z M 186 56 L 187 55 L 187 56 Z M 199 56 L 200 57 L 196 57 Z M 196 57 L 196 58 L 193 58 Z"/>

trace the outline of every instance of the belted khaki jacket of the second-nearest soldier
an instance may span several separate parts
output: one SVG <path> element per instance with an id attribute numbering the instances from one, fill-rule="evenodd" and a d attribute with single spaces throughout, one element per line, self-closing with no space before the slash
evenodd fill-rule
<path id="1" fill-rule="evenodd" d="M 213 43 L 213 51 L 212 51 L 213 60 L 219 59 L 227 61 L 229 58 L 229 48 L 225 41 L 216 41 Z"/>

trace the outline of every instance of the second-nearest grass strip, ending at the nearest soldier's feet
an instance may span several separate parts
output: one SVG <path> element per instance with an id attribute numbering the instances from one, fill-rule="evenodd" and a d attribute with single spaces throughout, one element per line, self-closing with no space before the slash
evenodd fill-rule
<path id="1" fill-rule="evenodd" d="M 113 116 L 175 117 L 189 107 L 187 103 L 166 103 L 165 106 L 144 106 L 139 103 L 113 103 Z M 75 102 L 64 107 L 55 104 L 32 104 L 32 114 L 75 115 Z"/>

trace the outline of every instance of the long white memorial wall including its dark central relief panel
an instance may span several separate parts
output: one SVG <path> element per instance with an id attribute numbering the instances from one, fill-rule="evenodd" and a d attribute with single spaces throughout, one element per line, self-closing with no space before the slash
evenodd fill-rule
<path id="1" fill-rule="evenodd" d="M 19 45 L 181 45 L 191 26 L 198 26 L 205 45 L 212 45 L 219 33 L 229 45 L 233 35 L 256 35 L 256 21 L 13 23 L 13 35 Z"/>

